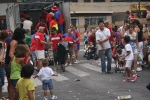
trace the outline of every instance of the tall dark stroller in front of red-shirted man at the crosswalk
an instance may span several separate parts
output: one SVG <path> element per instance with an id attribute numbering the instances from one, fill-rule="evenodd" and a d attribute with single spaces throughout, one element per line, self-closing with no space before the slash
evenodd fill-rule
<path id="1" fill-rule="evenodd" d="M 63 72 L 65 72 L 65 62 L 67 60 L 67 56 L 68 56 L 68 46 L 69 43 L 68 42 L 60 42 L 57 44 L 57 57 L 58 57 L 58 62 L 61 65 L 61 69 L 63 70 Z"/>

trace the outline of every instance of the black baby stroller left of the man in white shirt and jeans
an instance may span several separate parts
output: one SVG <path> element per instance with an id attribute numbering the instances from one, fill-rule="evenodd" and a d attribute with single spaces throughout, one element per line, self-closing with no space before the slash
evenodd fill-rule
<path id="1" fill-rule="evenodd" d="M 92 48 L 89 47 L 85 51 L 85 54 L 84 54 L 83 57 L 87 58 L 87 60 L 90 60 L 90 59 L 97 60 L 98 59 L 98 55 L 96 54 L 96 51 L 97 51 L 96 47 L 92 47 Z"/>

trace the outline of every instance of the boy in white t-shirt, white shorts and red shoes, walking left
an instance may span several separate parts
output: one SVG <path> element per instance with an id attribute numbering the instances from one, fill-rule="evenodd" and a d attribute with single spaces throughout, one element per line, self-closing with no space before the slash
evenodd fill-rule
<path id="1" fill-rule="evenodd" d="M 132 47 L 129 44 L 129 42 L 130 42 L 130 37 L 129 36 L 125 36 L 124 37 L 124 43 L 125 43 L 126 54 L 125 54 L 125 56 L 122 57 L 121 60 L 123 60 L 123 59 L 126 60 L 125 71 L 128 74 L 128 77 L 126 78 L 126 81 L 134 82 L 136 80 L 136 78 L 137 78 L 137 75 L 134 74 L 133 71 L 131 70 L 131 66 L 132 66 L 132 62 L 133 62 L 134 56 L 133 56 Z M 130 78 L 130 74 L 133 75 L 132 78 Z"/>

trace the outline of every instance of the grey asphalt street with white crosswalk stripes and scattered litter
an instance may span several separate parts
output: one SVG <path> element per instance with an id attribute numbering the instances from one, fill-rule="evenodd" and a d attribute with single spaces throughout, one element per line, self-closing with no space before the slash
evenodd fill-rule
<path id="1" fill-rule="evenodd" d="M 150 91 L 146 85 L 150 83 L 150 69 L 145 67 L 138 74 L 140 77 L 132 82 L 125 82 L 126 76 L 120 72 L 113 74 L 101 74 L 100 65 L 95 60 L 83 58 L 83 50 L 80 50 L 81 61 L 78 64 L 66 67 L 66 72 L 59 68 L 58 77 L 53 77 L 54 93 L 57 100 L 117 100 L 117 96 L 131 95 L 131 100 L 149 100 Z M 53 66 L 50 66 L 53 68 Z M 114 64 L 112 64 L 114 71 Z M 37 74 L 35 71 L 34 74 Z M 35 82 L 35 100 L 43 100 L 42 82 L 40 78 Z M 3 87 L 5 95 L 7 82 Z M 48 100 L 51 96 L 48 94 Z"/>

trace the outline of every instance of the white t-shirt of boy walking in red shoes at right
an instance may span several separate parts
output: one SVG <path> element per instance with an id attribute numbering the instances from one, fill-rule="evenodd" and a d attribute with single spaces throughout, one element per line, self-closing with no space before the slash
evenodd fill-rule
<path id="1" fill-rule="evenodd" d="M 126 51 L 126 54 L 128 53 L 128 51 L 130 51 L 130 54 L 126 56 L 125 60 L 133 60 L 134 56 L 133 56 L 133 51 L 132 51 L 132 47 L 130 44 L 125 45 L 125 51 Z"/>

